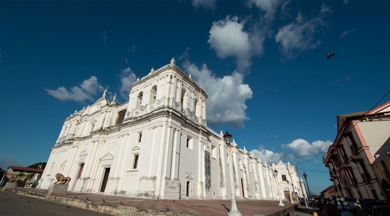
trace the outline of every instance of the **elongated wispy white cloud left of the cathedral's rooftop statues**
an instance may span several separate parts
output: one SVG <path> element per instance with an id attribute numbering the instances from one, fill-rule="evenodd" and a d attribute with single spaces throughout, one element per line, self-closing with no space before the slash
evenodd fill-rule
<path id="1" fill-rule="evenodd" d="M 93 100 L 93 97 L 104 90 L 104 88 L 98 83 L 96 76 L 84 80 L 79 86 L 73 86 L 70 90 L 64 86 L 57 89 L 45 89 L 47 94 L 53 96 L 58 100 L 72 100 L 76 102 L 82 102 L 85 100 Z"/>

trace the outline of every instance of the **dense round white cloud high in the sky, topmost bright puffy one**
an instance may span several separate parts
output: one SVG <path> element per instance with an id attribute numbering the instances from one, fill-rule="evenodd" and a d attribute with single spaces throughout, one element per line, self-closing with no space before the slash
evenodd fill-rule
<path id="1" fill-rule="evenodd" d="M 264 35 L 258 29 L 252 32 L 244 30 L 245 22 L 238 17 L 226 17 L 213 22 L 208 43 L 216 51 L 216 55 L 225 59 L 235 57 L 239 70 L 251 66 L 250 59 L 254 55 L 263 54 Z"/>

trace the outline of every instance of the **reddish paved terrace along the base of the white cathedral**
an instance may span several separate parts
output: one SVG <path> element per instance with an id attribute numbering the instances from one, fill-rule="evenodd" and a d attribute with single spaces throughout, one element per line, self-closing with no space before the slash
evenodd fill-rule
<path id="1" fill-rule="evenodd" d="M 39 193 L 47 193 L 42 189 L 18 188 L 25 191 L 36 191 Z M 88 199 L 108 203 L 122 202 L 126 206 L 134 206 L 137 208 L 154 209 L 162 212 L 186 213 L 189 215 L 199 216 L 226 216 L 231 207 L 230 200 L 203 200 L 203 199 L 141 199 L 130 197 L 109 196 L 93 193 L 75 193 L 68 191 L 66 197 L 76 199 Z M 236 200 L 237 208 L 243 216 L 265 216 L 278 212 L 284 208 L 292 206 L 292 204 L 284 202 L 285 206 L 279 206 L 278 200 Z"/>

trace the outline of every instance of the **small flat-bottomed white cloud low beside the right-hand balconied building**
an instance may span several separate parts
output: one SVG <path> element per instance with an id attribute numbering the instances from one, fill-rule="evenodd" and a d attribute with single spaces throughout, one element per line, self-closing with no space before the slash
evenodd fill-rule
<path id="1" fill-rule="evenodd" d="M 289 144 L 282 144 L 282 148 L 292 150 L 292 155 L 295 158 L 302 158 L 314 156 L 322 150 L 328 148 L 331 144 L 331 141 L 317 140 L 309 143 L 304 139 L 296 139 Z"/>

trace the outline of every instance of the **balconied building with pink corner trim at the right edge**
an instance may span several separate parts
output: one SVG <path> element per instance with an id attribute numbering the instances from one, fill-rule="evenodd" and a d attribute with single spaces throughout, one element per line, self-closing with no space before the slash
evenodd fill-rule
<path id="1" fill-rule="evenodd" d="M 381 188 L 389 183 L 389 169 L 380 176 L 375 174 L 373 165 L 387 158 L 387 151 L 390 101 L 370 111 L 337 116 L 337 136 L 323 162 L 338 196 L 386 199 Z"/>

